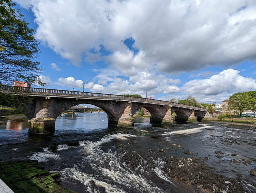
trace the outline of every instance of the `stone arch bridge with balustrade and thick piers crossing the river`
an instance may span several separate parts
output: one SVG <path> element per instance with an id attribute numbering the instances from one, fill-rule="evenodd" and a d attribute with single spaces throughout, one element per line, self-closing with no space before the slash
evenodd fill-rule
<path id="1" fill-rule="evenodd" d="M 17 86 L 1 86 L 0 91 L 7 94 L 28 95 L 32 102 L 23 113 L 30 119 L 29 133 L 49 134 L 55 131 L 55 119 L 65 110 L 79 104 L 92 104 L 104 110 L 109 125 L 133 127 L 132 116 L 141 108 L 151 113 L 151 123 L 171 123 L 172 113 L 176 113 L 176 121 L 187 121 L 196 117 L 201 121 L 207 109 L 154 100 L 113 94 L 55 90 L 45 88 L 25 88 Z M 4 105 L 4 101 L 0 101 Z"/>

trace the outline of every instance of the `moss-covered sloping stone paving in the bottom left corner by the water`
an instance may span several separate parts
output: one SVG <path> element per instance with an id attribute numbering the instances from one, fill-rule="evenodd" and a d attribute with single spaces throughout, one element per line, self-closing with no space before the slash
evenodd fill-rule
<path id="1" fill-rule="evenodd" d="M 37 160 L 0 163 L 0 178 L 15 193 L 19 192 L 74 192 L 63 189 L 55 179 L 59 173 L 49 174 Z"/>

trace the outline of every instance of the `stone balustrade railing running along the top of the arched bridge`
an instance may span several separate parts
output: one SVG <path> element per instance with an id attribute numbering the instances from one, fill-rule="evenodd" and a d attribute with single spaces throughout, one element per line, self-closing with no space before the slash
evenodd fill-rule
<path id="1" fill-rule="evenodd" d="M 92 92 L 80 92 L 80 91 L 70 91 L 70 90 L 56 90 L 56 89 L 46 89 L 46 88 L 27 88 L 18 86 L 6 86 L 0 85 L 0 90 L 7 92 L 26 92 L 30 95 L 47 95 L 47 96 L 77 96 L 84 98 L 99 98 L 99 99 L 117 99 L 117 100 L 128 100 L 136 102 L 146 102 L 161 105 L 170 105 L 175 107 L 184 107 L 195 110 L 207 111 L 205 108 L 199 108 L 195 106 L 189 106 L 185 104 L 179 104 L 175 102 L 168 102 L 162 100 L 148 99 L 148 98 L 137 98 L 132 96 L 121 96 L 115 94 L 103 94 L 103 93 L 92 93 Z"/>

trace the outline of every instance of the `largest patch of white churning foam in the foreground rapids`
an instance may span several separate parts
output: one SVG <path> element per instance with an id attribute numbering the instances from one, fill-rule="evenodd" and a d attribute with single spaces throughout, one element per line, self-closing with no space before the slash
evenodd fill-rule
<path id="1" fill-rule="evenodd" d="M 82 151 L 88 155 L 83 157 L 83 162 L 85 164 L 82 163 L 75 166 L 74 168 L 64 169 L 64 176 L 68 175 L 69 177 L 79 180 L 85 185 L 88 184 L 90 180 L 93 180 L 96 185 L 105 187 L 107 192 L 123 192 L 123 189 L 119 188 L 120 186 L 124 186 L 127 189 L 136 189 L 138 192 L 143 192 L 145 190 L 149 192 L 163 192 L 162 189 L 155 186 L 153 182 L 147 180 L 143 176 L 143 166 L 146 165 L 146 161 L 141 156 L 139 166 L 135 168 L 135 171 L 133 171 L 128 165 L 121 161 L 121 157 L 130 156 L 129 154 L 126 152 L 117 154 L 117 152 L 112 152 L 111 150 L 104 152 L 101 149 L 102 144 L 107 143 L 112 139 L 125 140 L 128 137 L 137 136 L 118 133 L 114 135 L 106 135 L 101 140 L 96 142 L 81 141 L 80 146 L 84 147 Z M 92 170 L 97 173 L 97 175 L 94 176 L 94 174 L 81 172 L 81 169 L 78 168 L 82 167 L 83 165 L 87 165 L 88 163 L 90 164 Z M 161 171 L 161 168 L 164 166 L 164 164 L 165 163 L 160 159 L 157 160 L 155 165 L 153 165 L 153 170 L 160 178 L 170 182 L 170 180 Z M 104 176 L 104 179 L 108 183 L 101 181 L 99 176 Z"/>

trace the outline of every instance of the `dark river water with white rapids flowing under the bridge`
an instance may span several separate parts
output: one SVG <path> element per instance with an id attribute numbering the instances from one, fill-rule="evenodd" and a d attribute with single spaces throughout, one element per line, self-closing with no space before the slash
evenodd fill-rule
<path id="1" fill-rule="evenodd" d="M 189 156 L 185 150 L 208 157 L 204 162 L 227 178 L 240 173 L 245 190 L 256 192 L 256 177 L 249 174 L 256 167 L 254 128 L 219 123 L 151 125 L 147 118 L 136 118 L 134 129 L 108 128 L 105 113 L 80 113 L 58 117 L 51 136 L 30 136 L 27 131 L 26 119 L 0 126 L 0 158 L 37 159 L 46 169 L 60 172 L 62 186 L 77 192 L 90 192 L 91 180 L 107 192 L 197 192 L 198 188 L 186 188 L 162 171 L 166 157 Z M 68 147 L 70 140 L 80 145 Z M 157 154 L 157 149 L 172 150 Z M 141 157 L 136 167 L 123 161 L 133 153 Z M 153 156 L 157 158 L 148 161 Z M 163 182 L 151 178 L 152 172 Z"/>

